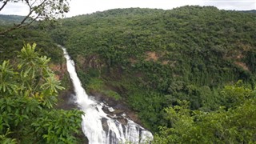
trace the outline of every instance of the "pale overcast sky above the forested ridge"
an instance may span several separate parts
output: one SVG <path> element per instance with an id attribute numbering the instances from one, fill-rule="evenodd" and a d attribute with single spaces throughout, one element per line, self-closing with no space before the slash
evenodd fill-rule
<path id="1" fill-rule="evenodd" d="M 256 0 L 71 0 L 70 12 L 66 17 L 116 8 L 141 7 L 170 10 L 186 5 L 216 6 L 220 10 L 256 10 Z M 0 14 L 26 15 L 27 8 L 22 3 L 9 3 L 0 11 Z"/>

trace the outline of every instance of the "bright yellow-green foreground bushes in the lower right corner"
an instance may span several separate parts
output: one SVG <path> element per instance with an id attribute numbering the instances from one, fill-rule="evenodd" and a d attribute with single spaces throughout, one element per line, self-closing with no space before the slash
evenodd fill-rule
<path id="1" fill-rule="evenodd" d="M 256 94 L 238 83 L 222 90 L 227 103 L 213 112 L 190 110 L 189 102 L 166 108 L 171 126 L 161 127 L 154 143 L 254 143 Z"/>

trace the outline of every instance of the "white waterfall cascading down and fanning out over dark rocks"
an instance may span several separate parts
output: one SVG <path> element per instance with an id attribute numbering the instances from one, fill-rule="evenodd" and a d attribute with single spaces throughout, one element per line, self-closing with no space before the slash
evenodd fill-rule
<path id="1" fill-rule="evenodd" d="M 113 108 L 97 102 L 93 97 L 86 94 L 75 71 L 74 61 L 70 59 L 64 47 L 62 47 L 62 50 L 66 58 L 67 70 L 74 85 L 76 103 L 80 109 L 85 112 L 85 114 L 82 115 L 82 131 L 88 138 L 89 143 L 150 143 L 153 139 L 153 135 L 150 131 L 139 126 L 129 118 L 126 118 L 127 124 L 122 124 L 115 119 L 114 116 L 111 117 L 102 110 L 103 106 L 107 107 L 110 112 L 114 111 Z M 122 116 L 124 117 L 125 114 L 122 114 Z"/>

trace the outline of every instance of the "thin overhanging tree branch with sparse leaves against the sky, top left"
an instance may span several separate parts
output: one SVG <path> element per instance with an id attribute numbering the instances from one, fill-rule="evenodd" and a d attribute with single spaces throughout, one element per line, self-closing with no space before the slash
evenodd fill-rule
<path id="1" fill-rule="evenodd" d="M 0 0 L 0 12 L 6 5 L 12 2 L 22 2 L 26 4 L 29 8 L 28 14 L 26 14 L 26 17 L 17 25 L 0 31 L 0 35 L 6 34 L 11 30 L 29 26 L 36 20 L 50 20 L 58 18 L 69 11 L 67 0 Z"/>

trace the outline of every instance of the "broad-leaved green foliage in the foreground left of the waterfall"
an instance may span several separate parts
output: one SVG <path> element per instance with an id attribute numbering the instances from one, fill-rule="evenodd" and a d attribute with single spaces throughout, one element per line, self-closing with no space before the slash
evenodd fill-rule
<path id="1" fill-rule="evenodd" d="M 53 108 L 63 87 L 35 46 L 0 65 L 0 143 L 75 143 L 82 112 Z"/>

